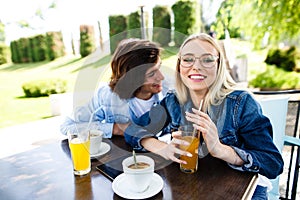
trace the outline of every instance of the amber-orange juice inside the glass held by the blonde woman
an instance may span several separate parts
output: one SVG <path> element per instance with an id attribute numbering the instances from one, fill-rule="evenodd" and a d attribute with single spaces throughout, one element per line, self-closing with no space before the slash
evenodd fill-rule
<path id="1" fill-rule="evenodd" d="M 180 145 L 180 149 L 190 152 L 193 156 L 180 156 L 180 160 L 184 160 L 187 164 L 180 164 L 180 169 L 183 172 L 194 173 L 197 171 L 198 167 L 198 147 L 199 147 L 199 138 L 193 136 L 183 136 L 181 139 L 188 141 L 190 145 Z"/>

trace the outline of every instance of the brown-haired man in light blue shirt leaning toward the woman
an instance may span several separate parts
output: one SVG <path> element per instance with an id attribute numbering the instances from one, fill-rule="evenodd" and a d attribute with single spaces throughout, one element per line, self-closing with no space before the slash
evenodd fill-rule
<path id="1" fill-rule="evenodd" d="M 61 125 L 61 132 L 67 134 L 83 125 L 111 138 L 123 135 L 131 120 L 141 126 L 148 123 L 149 109 L 168 90 L 163 87 L 160 52 L 160 47 L 148 40 L 121 41 L 111 59 L 109 84 L 100 87 L 87 105 L 76 108 Z"/>

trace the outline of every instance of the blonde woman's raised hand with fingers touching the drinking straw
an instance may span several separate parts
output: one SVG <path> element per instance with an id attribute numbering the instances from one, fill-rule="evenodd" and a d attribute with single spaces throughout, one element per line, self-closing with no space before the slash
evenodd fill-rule
<path id="1" fill-rule="evenodd" d="M 192 109 L 194 113 L 186 112 L 186 119 L 193 123 L 194 128 L 202 133 L 203 139 L 207 146 L 209 153 L 218 157 L 218 154 L 222 153 L 220 149 L 222 144 L 219 140 L 218 130 L 216 125 L 212 122 L 210 117 L 197 109 Z"/>

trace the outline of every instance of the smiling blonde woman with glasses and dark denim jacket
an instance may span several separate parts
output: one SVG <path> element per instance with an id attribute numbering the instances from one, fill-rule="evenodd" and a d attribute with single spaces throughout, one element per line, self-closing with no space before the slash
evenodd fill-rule
<path id="1" fill-rule="evenodd" d="M 217 41 L 207 34 L 188 37 L 180 47 L 176 71 L 176 92 L 168 93 L 150 111 L 156 118 L 151 122 L 160 123 L 150 123 L 147 128 L 129 126 L 126 141 L 135 149 L 185 164 L 178 155 L 191 155 L 178 148 L 184 142 L 176 130 L 192 123 L 203 137 L 199 156 L 209 153 L 234 169 L 259 173 L 253 199 L 267 199 L 269 179 L 282 173 L 283 159 L 260 105 L 249 92 L 235 89 Z M 200 102 L 203 104 L 198 110 Z M 157 127 L 162 134 L 172 134 L 170 143 L 156 138 Z"/>

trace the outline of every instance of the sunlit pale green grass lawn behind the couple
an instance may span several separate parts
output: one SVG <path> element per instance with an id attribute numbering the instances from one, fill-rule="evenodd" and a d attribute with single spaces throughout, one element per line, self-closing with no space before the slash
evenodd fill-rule
<path id="1" fill-rule="evenodd" d="M 247 55 L 249 78 L 264 70 L 265 52 L 253 52 L 249 43 L 235 40 L 232 47 L 236 56 Z M 173 75 L 176 53 L 177 49 L 173 47 L 162 55 L 162 71 L 166 76 Z M 61 78 L 68 81 L 69 92 L 93 90 L 96 82 L 109 80 L 110 58 L 102 56 L 100 60 L 96 58 L 90 62 L 89 57 L 68 55 L 52 62 L 0 65 L 0 128 L 52 117 L 49 97 L 24 98 L 24 82 Z"/>

